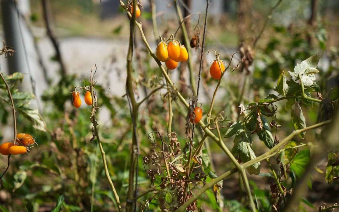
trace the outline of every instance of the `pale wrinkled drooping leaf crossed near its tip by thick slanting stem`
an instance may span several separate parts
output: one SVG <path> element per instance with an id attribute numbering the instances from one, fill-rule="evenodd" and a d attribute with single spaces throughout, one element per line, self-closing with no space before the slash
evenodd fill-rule
<path id="1" fill-rule="evenodd" d="M 235 144 L 237 153 L 239 154 L 242 162 L 247 162 L 256 158 L 251 144 L 248 142 L 240 141 Z M 246 168 L 251 175 L 258 175 L 260 173 L 260 162 L 253 164 Z"/>

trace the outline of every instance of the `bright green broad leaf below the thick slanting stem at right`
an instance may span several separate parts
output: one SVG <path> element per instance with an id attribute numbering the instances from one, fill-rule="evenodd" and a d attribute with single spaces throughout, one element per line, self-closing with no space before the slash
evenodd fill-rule
<path id="1" fill-rule="evenodd" d="M 292 159 L 290 164 L 290 170 L 292 170 L 297 177 L 301 177 L 310 160 L 311 160 L 310 150 L 302 150 L 298 152 Z"/>

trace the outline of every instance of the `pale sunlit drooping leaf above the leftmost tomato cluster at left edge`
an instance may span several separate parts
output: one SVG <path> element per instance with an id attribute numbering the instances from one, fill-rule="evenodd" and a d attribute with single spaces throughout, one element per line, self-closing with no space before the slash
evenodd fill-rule
<path id="1" fill-rule="evenodd" d="M 46 131 L 47 126 L 46 123 L 43 121 L 43 118 L 39 114 L 37 109 L 32 110 L 26 107 L 17 107 L 16 108 L 19 113 L 21 113 L 28 121 L 33 124 L 33 127 L 37 130 Z"/>

